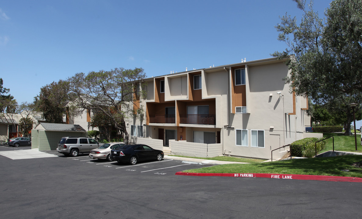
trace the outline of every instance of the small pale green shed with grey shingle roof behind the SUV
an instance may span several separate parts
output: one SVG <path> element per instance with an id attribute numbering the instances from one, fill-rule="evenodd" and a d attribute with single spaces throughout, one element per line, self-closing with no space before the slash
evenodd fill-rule
<path id="1" fill-rule="evenodd" d="M 80 125 L 41 122 L 31 130 L 31 149 L 56 150 L 64 136 L 88 137 L 88 132 Z"/>

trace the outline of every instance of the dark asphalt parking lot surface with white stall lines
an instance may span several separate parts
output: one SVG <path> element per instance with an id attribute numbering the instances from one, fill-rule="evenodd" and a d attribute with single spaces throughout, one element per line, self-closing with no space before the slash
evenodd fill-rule
<path id="1" fill-rule="evenodd" d="M 26 148 L 0 146 L 0 151 L 7 150 Z M 0 156 L 0 166 L 1 218 L 362 216 L 362 183 L 178 176 L 177 171 L 206 165 L 164 159 L 131 166 L 92 160 L 86 154 L 14 160 Z"/>

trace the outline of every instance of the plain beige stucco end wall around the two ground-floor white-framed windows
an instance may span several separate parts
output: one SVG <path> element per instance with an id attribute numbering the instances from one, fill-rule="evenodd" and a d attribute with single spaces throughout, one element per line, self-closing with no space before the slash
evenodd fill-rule
<path id="1" fill-rule="evenodd" d="M 222 130 L 223 148 L 231 150 L 231 155 L 269 159 L 271 150 L 303 138 L 306 114 L 301 108 L 306 100 L 296 97 L 296 115 L 287 114 L 293 112 L 292 94 L 282 80 L 288 73 L 284 63 L 248 67 L 250 113 L 229 114 L 229 126 L 234 129 Z M 236 129 L 248 130 L 248 146 L 236 146 Z M 251 146 L 251 130 L 264 130 L 264 148 Z"/>

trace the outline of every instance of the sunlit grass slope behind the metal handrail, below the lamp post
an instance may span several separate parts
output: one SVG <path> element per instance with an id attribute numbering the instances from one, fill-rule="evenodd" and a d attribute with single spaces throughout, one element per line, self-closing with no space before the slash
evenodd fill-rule
<path id="1" fill-rule="evenodd" d="M 323 133 L 323 138 L 331 136 L 333 136 L 334 139 L 334 150 L 356 152 L 354 135 L 345 136 L 342 133 Z M 332 150 L 333 148 L 332 138 L 325 141 L 327 141 L 327 147 L 321 152 Z M 357 149 L 357 152 L 362 152 L 361 135 L 357 135 Z"/>

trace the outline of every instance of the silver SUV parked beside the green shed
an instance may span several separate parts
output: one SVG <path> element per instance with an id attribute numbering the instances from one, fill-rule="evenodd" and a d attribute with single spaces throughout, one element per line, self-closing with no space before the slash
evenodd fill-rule
<path id="1" fill-rule="evenodd" d="M 88 137 L 62 137 L 59 140 L 57 152 L 77 157 L 79 153 L 90 153 L 90 150 L 96 149 L 103 143 Z"/>

